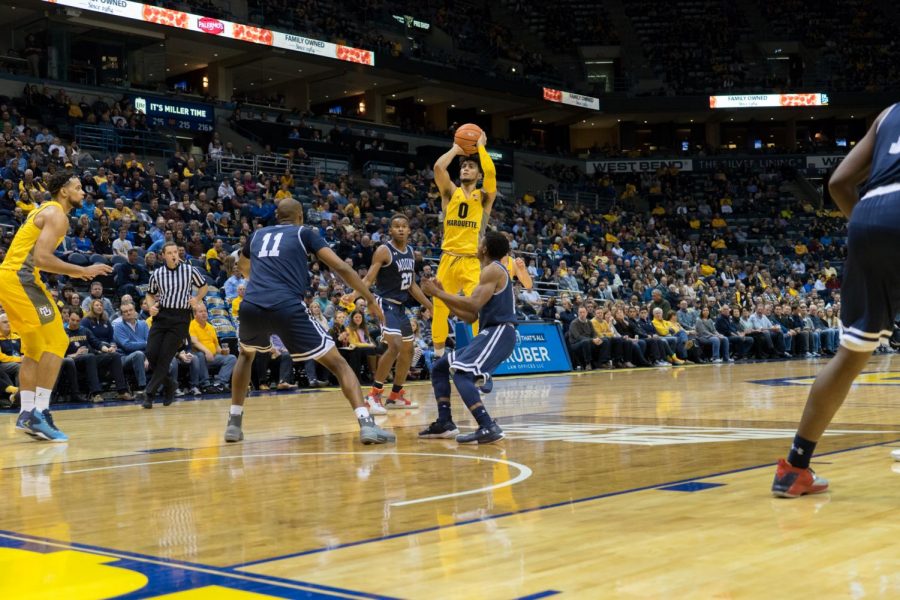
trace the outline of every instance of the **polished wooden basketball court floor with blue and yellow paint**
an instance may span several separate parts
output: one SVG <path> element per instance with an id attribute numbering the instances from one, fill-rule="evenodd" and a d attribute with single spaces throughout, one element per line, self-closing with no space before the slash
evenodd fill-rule
<path id="1" fill-rule="evenodd" d="M 822 363 L 497 381 L 508 437 L 364 447 L 336 391 L 0 415 L 0 598 L 900 597 L 900 356 L 873 358 L 820 444 L 817 497 L 776 500 Z M 461 403 L 457 423 L 471 427 Z M 897 463 L 900 465 L 900 463 Z"/>

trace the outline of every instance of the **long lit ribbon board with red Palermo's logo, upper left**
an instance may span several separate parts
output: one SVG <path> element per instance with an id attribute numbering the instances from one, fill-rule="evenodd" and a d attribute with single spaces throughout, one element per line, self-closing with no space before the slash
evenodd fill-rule
<path id="1" fill-rule="evenodd" d="M 337 60 L 368 65 L 370 67 L 375 66 L 375 53 L 370 50 L 341 46 L 340 44 L 332 44 L 330 42 L 305 38 L 301 35 L 292 33 L 283 33 L 265 29 L 263 27 L 222 21 L 220 19 L 186 13 L 180 10 L 132 2 L 131 0 L 43 1 L 50 4 L 59 4 L 60 6 L 70 6 L 81 10 L 89 10 L 115 17 L 122 17 L 124 19 L 134 19 L 136 21 L 164 25 L 166 27 L 177 27 L 178 29 L 186 29 L 197 33 L 205 33 L 207 35 L 218 35 L 233 40 L 250 42 L 251 44 L 261 44 L 263 46 L 283 48 L 293 52 L 303 52 L 305 54 L 324 56 L 325 58 L 335 58 Z"/>

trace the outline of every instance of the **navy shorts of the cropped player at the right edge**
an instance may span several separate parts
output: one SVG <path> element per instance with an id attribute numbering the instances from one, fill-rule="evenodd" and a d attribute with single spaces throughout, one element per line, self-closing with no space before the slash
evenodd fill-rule
<path id="1" fill-rule="evenodd" d="M 900 194 L 861 200 L 847 226 L 841 284 L 841 345 L 871 352 L 900 312 Z"/>

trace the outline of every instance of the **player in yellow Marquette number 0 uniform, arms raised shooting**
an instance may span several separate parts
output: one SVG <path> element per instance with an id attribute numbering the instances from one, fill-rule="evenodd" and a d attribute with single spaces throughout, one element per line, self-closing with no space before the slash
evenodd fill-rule
<path id="1" fill-rule="evenodd" d="M 458 142 L 464 141 L 461 134 L 467 128 L 468 131 L 473 128 L 477 130 L 474 125 L 460 127 L 453 147 L 434 163 L 434 182 L 441 191 L 441 212 L 444 214 L 444 239 L 437 278 L 449 294 L 462 292 L 466 296 L 478 285 L 481 275 L 478 242 L 497 196 L 497 170 L 485 149 L 487 136 L 482 132 L 474 148 L 464 148 Z M 462 157 L 459 160 L 459 187 L 450 180 L 447 172 L 450 163 L 457 156 Z M 484 182 L 479 190 L 476 186 L 482 175 Z M 450 332 L 447 321 L 449 317 L 447 304 L 435 298 L 431 323 L 435 358 L 444 354 Z M 472 329 L 477 334 L 478 323 L 473 323 Z"/>

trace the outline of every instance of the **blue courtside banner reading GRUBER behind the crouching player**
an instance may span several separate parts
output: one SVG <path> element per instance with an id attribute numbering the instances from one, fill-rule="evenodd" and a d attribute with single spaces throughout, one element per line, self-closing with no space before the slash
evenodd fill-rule
<path id="1" fill-rule="evenodd" d="M 471 326 L 456 323 L 456 347 L 472 341 Z M 559 323 L 520 321 L 516 328 L 516 348 L 494 375 L 520 373 L 559 373 L 572 370 L 569 351 Z"/>

